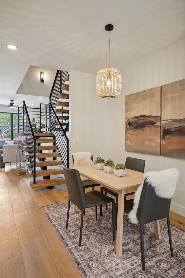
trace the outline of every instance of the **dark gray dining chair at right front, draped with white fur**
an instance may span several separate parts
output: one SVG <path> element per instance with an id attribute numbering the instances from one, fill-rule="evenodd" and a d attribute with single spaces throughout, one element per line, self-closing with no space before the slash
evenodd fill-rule
<path id="1" fill-rule="evenodd" d="M 161 172 L 159 175 L 159 182 L 160 182 L 160 192 L 158 189 L 155 188 L 153 185 L 153 180 L 150 178 L 150 182 L 145 178 L 143 183 L 143 188 L 140 194 L 140 199 L 138 203 L 138 208 L 135 211 L 135 217 L 133 218 L 134 210 L 133 207 L 133 200 L 127 200 L 124 203 L 124 212 L 126 211 L 129 213 L 129 219 L 132 223 L 139 224 L 139 236 L 140 236 L 140 252 L 141 252 L 141 263 L 142 269 L 145 270 L 145 250 L 144 250 L 144 238 L 143 238 L 143 225 L 154 222 L 163 218 L 167 219 L 167 227 L 168 227 L 168 236 L 169 236 L 169 245 L 170 245 L 170 252 L 171 257 L 173 257 L 173 247 L 172 247 L 172 240 L 171 240 L 171 229 L 170 229 L 170 219 L 169 219 L 169 210 L 171 204 L 171 198 L 175 193 L 175 187 L 179 178 L 179 171 L 177 169 L 167 169 L 169 171 L 158 171 Z M 157 171 L 155 171 L 156 173 Z M 170 172 L 170 173 L 169 173 Z M 151 173 L 151 172 L 149 172 Z M 170 176 L 171 175 L 171 176 Z M 172 178 L 171 178 L 172 177 Z M 161 190 L 162 186 L 166 186 L 168 184 L 167 178 L 170 181 L 170 188 L 174 188 L 172 190 L 171 195 L 169 193 L 165 194 L 165 190 Z M 166 182 L 164 182 L 166 180 Z M 170 189 L 169 189 L 170 190 Z M 162 192 L 163 191 L 163 192 Z M 161 193 L 162 192 L 162 193 Z M 163 197 L 159 197 L 158 195 L 163 194 Z M 164 197 L 166 195 L 166 197 Z M 168 195 L 168 196 L 167 196 Z M 134 203 L 135 198 L 134 198 Z M 116 230 L 116 222 L 117 222 L 117 209 L 118 203 L 112 204 L 112 239 L 115 240 L 115 230 Z M 130 211 L 132 210 L 132 214 Z"/>

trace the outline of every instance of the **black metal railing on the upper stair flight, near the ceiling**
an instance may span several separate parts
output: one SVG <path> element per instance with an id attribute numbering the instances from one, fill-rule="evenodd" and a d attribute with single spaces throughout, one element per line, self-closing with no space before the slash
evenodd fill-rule
<path id="1" fill-rule="evenodd" d="M 53 109 L 56 108 L 56 103 L 58 102 L 58 95 L 62 94 L 62 86 L 64 85 L 64 78 L 68 72 L 63 70 L 57 70 L 53 87 L 51 89 L 51 94 L 49 96 L 49 103 L 52 105 Z"/>

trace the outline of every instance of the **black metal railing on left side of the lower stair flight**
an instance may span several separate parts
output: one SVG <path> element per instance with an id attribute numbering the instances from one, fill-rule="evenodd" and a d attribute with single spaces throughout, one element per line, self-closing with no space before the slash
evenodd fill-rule
<path id="1" fill-rule="evenodd" d="M 36 183 L 36 138 L 34 136 L 34 131 L 32 128 L 32 124 L 29 118 L 29 114 L 27 111 L 27 107 L 25 101 L 18 106 L 18 133 L 23 132 L 25 135 L 28 153 L 29 153 L 29 161 L 31 164 L 31 169 L 33 173 L 33 183 Z"/>

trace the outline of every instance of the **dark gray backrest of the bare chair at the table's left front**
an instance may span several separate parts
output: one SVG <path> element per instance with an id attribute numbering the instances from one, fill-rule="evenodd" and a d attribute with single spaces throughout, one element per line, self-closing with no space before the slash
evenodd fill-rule
<path id="1" fill-rule="evenodd" d="M 75 204 L 81 211 L 84 211 L 86 207 L 86 198 L 79 171 L 75 169 L 69 169 L 64 165 L 62 165 L 62 167 L 64 171 L 67 191 L 69 194 L 69 200 L 73 204 Z"/>

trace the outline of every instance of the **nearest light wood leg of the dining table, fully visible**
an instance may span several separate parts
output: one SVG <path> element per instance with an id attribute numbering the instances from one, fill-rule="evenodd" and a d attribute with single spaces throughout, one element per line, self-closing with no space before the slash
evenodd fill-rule
<path id="1" fill-rule="evenodd" d="M 118 257 L 122 256 L 124 196 L 125 196 L 125 189 L 122 189 L 119 191 L 119 195 L 118 195 L 118 218 L 117 218 L 117 233 L 116 233 L 116 255 Z"/>

